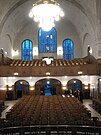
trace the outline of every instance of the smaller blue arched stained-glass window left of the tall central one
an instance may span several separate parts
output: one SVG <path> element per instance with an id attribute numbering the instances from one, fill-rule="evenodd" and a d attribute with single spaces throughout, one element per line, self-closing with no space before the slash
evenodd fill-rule
<path id="1" fill-rule="evenodd" d="M 26 39 L 22 42 L 22 60 L 33 59 L 33 43 L 31 40 Z"/>

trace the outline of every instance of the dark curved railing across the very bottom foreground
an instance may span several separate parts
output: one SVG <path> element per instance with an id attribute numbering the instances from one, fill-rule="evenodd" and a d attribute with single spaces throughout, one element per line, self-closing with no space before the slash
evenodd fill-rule
<path id="1" fill-rule="evenodd" d="M 80 125 L 33 125 L 2 127 L 0 135 L 101 135 L 101 127 Z"/>

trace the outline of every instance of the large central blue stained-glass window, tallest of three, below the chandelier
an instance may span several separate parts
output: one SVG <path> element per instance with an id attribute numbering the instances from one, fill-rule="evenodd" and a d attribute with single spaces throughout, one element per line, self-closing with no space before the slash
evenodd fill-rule
<path id="1" fill-rule="evenodd" d="M 57 32 L 55 28 L 50 31 L 38 31 L 38 50 L 39 53 L 56 53 L 57 51 Z"/>

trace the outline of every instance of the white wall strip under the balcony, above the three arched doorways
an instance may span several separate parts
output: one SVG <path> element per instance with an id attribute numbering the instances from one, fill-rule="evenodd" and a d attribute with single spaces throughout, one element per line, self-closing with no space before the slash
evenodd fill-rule
<path id="1" fill-rule="evenodd" d="M 61 81 L 62 84 L 66 84 L 71 79 L 79 79 L 83 84 L 91 84 L 92 87 L 98 88 L 98 76 L 60 76 L 60 77 L 0 77 L 0 89 L 5 88 L 6 85 L 14 85 L 14 83 L 18 80 L 26 80 L 30 85 L 35 85 L 35 83 L 44 78 L 54 78 Z"/>

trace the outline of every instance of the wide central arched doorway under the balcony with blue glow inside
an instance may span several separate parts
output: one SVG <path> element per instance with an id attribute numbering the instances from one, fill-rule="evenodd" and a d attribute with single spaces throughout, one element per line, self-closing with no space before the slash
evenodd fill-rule
<path id="1" fill-rule="evenodd" d="M 36 95 L 51 96 L 62 94 L 61 82 L 57 79 L 41 79 L 35 83 Z"/>

